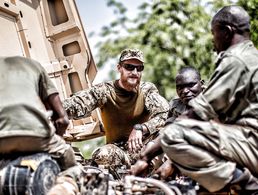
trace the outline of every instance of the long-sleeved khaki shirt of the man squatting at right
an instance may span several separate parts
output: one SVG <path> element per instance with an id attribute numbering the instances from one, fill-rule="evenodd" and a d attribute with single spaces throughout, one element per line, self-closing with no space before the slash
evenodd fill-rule
<path id="1" fill-rule="evenodd" d="M 251 41 L 221 52 L 207 88 L 189 102 L 203 120 L 258 129 L 258 51 Z"/>

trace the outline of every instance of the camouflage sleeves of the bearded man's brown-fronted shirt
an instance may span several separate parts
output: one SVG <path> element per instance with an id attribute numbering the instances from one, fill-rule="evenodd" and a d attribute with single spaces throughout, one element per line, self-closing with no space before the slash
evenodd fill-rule
<path id="1" fill-rule="evenodd" d="M 63 106 L 69 118 L 79 119 L 87 117 L 94 109 L 102 108 L 107 102 L 110 102 L 108 100 L 113 98 L 111 95 L 115 92 L 114 83 L 115 81 L 103 82 L 65 99 Z M 141 82 L 140 89 L 144 97 L 144 109 L 149 114 L 149 119 L 142 124 L 144 124 L 152 134 L 157 131 L 158 127 L 164 125 L 167 119 L 169 105 L 168 102 L 159 95 L 154 84 Z"/>

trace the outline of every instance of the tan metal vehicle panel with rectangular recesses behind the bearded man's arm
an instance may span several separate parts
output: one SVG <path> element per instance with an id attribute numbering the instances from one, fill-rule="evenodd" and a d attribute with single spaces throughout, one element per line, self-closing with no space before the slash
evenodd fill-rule
<path id="1" fill-rule="evenodd" d="M 61 99 L 91 86 L 97 73 L 75 0 L 0 0 L 0 55 L 33 58 L 54 81 Z M 72 120 L 65 138 L 102 136 L 98 110 Z"/>

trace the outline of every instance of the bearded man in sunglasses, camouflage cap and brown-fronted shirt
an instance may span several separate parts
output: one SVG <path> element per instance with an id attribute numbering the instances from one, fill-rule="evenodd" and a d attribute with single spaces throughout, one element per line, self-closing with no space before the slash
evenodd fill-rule
<path id="1" fill-rule="evenodd" d="M 140 151 L 145 137 L 155 134 L 167 118 L 167 101 L 154 84 L 141 82 L 144 59 L 140 50 L 122 51 L 117 69 L 120 79 L 97 84 L 63 102 L 73 119 L 100 108 L 107 145 L 93 154 L 98 164 L 115 164 L 118 160 L 117 164 L 130 165 L 132 154 Z"/>

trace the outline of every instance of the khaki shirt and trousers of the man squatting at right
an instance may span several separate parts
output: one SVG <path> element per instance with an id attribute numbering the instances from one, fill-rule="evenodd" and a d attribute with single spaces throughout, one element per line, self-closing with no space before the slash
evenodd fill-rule
<path id="1" fill-rule="evenodd" d="M 209 191 L 222 189 L 236 165 L 258 176 L 258 51 L 251 41 L 219 54 L 207 88 L 189 105 L 203 121 L 177 119 L 161 139 L 180 171 Z"/>

